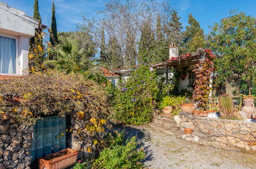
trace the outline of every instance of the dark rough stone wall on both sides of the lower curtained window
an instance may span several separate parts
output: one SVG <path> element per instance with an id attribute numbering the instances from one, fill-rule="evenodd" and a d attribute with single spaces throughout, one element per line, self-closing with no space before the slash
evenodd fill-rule
<path id="1" fill-rule="evenodd" d="M 85 121 L 89 121 L 89 115 L 83 120 L 71 118 L 71 138 L 68 147 L 78 150 L 78 159 L 92 160 L 95 158 L 95 145 L 93 139 L 85 130 Z M 0 117 L 0 169 L 19 168 L 29 169 L 32 156 L 33 126 L 21 126 L 11 119 Z M 78 131 L 80 131 L 77 133 Z"/>

